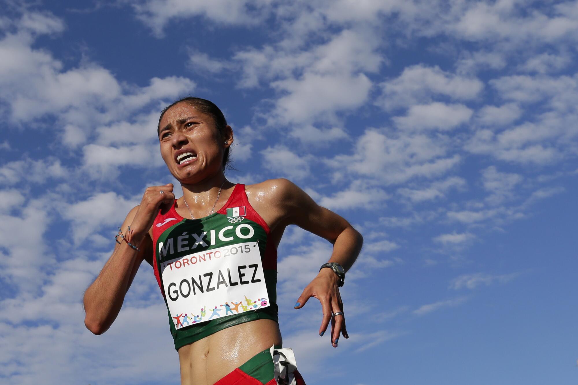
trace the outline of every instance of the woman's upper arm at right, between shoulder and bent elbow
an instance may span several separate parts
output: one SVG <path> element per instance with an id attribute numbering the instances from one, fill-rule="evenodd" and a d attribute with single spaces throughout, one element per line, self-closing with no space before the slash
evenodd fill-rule
<path id="1" fill-rule="evenodd" d="M 313 234 L 334 243 L 344 229 L 351 227 L 343 217 L 318 205 L 305 191 L 290 180 L 276 180 L 278 186 L 277 203 L 284 223 L 298 225 Z"/>

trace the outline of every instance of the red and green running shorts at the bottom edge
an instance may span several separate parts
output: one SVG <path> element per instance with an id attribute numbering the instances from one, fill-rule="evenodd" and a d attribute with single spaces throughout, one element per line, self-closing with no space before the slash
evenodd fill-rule
<path id="1" fill-rule="evenodd" d="M 275 349 L 280 349 L 280 347 L 275 346 Z M 214 385 L 277 385 L 275 377 L 273 377 L 274 371 L 273 358 L 267 349 L 249 358 L 249 361 L 218 380 Z M 293 375 L 297 385 L 305 385 L 305 381 L 297 369 Z"/>

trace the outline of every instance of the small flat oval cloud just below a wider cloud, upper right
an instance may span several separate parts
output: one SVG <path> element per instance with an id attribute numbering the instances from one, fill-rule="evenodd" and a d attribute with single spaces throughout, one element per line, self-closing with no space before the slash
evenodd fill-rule
<path id="1" fill-rule="evenodd" d="M 406 116 L 392 118 L 399 128 L 407 130 L 434 129 L 449 130 L 466 123 L 472 116 L 472 110 L 463 104 L 433 102 L 414 105 L 407 110 Z"/>

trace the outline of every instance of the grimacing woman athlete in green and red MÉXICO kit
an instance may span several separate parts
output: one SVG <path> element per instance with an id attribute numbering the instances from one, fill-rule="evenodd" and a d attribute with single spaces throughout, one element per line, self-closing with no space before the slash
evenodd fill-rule
<path id="1" fill-rule="evenodd" d="M 339 287 L 361 250 L 361 234 L 287 179 L 247 185 L 225 179 L 233 131 L 212 102 L 187 97 L 168 106 L 158 137 L 183 197 L 175 199 L 170 183 L 148 187 L 128 213 L 118 245 L 84 294 L 86 327 L 97 335 L 108 330 L 144 260 L 167 305 L 181 384 L 305 384 L 287 363 L 288 349 L 281 349 L 277 245 L 291 224 L 334 245 L 334 263 L 320 266 L 295 309 L 317 298 L 323 307 L 319 334 L 331 321 L 337 347 L 340 334 L 349 338 Z M 272 356 L 281 363 L 287 358 L 291 376 L 275 379 Z"/>

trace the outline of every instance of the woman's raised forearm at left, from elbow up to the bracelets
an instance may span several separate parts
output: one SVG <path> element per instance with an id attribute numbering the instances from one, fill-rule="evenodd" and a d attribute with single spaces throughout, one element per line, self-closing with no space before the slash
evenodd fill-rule
<path id="1" fill-rule="evenodd" d="M 126 242 L 116 247 L 102 271 L 84 293 L 84 324 L 94 334 L 102 334 L 123 306 L 132 271 L 138 268 L 138 251 Z"/>

